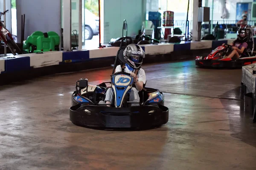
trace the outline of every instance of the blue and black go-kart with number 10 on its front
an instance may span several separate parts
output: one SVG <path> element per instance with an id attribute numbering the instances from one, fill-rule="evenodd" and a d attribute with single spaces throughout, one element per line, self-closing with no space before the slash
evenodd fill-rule
<path id="1" fill-rule="evenodd" d="M 123 51 L 125 46 L 121 41 L 117 52 L 110 82 L 99 85 L 88 85 L 86 78 L 76 81 L 76 91 L 72 95 L 72 107 L 70 107 L 70 121 L 81 127 L 93 128 L 151 128 L 166 124 L 169 120 L 169 109 L 164 106 L 164 95 L 158 89 L 143 87 L 139 92 L 140 101 L 128 101 L 129 93 L 134 84 L 133 77 L 126 72 L 114 70 L 117 63 L 125 64 Z M 126 41 L 127 42 L 127 41 Z M 107 86 L 110 84 L 110 86 Z M 108 88 L 113 90 L 114 100 L 111 107 L 101 104 L 104 101 Z M 139 106 L 131 106 L 137 103 Z"/>

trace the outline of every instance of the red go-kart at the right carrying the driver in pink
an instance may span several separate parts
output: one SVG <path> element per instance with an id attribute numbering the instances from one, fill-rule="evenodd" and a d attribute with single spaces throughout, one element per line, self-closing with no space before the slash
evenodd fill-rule
<path id="1" fill-rule="evenodd" d="M 256 62 L 256 56 L 255 52 L 253 52 L 253 47 L 251 47 L 251 42 L 248 43 L 248 47 L 245 49 L 247 56 L 241 56 L 235 60 L 232 58 L 225 58 L 225 56 L 229 55 L 232 50 L 232 46 L 228 44 L 218 46 L 216 49 L 212 50 L 207 57 L 197 56 L 195 64 L 200 67 L 241 68 L 242 66 Z"/>

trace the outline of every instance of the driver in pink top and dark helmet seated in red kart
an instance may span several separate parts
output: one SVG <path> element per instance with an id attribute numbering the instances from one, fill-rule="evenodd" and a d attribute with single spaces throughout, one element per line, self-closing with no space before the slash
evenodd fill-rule
<path id="1" fill-rule="evenodd" d="M 233 58 L 235 56 L 236 59 L 238 59 L 242 55 L 246 56 L 246 49 L 248 46 L 247 41 L 250 39 L 250 34 L 250 28 L 248 26 L 240 28 L 239 31 L 237 32 L 237 39 L 230 44 L 232 46 L 233 51 L 230 53 L 230 55 L 226 56 L 225 58 Z"/>

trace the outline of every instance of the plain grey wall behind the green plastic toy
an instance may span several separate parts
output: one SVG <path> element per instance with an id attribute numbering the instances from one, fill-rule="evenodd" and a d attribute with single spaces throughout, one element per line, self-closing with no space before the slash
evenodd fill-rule
<path id="1" fill-rule="evenodd" d="M 61 0 L 16 0 L 17 42 L 21 40 L 21 15 L 25 14 L 24 39 L 35 31 L 61 35 Z"/>

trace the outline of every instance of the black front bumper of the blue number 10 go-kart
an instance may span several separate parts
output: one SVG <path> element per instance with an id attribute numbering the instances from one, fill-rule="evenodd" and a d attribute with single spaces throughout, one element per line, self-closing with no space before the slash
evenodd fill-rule
<path id="1" fill-rule="evenodd" d="M 81 127 L 151 128 L 168 120 L 169 109 L 163 105 L 115 108 L 77 104 L 70 107 L 70 121 Z"/>

